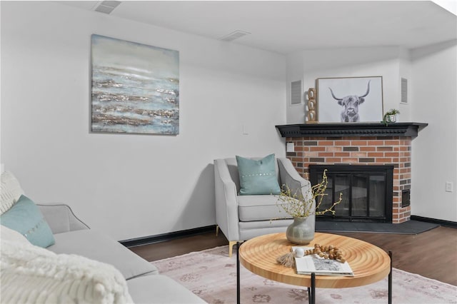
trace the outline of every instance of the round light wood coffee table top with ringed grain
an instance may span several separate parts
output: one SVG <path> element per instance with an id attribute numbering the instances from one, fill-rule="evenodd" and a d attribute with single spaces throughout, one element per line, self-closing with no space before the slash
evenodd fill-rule
<path id="1" fill-rule="evenodd" d="M 343 251 L 354 276 L 316 275 L 316 288 L 346 288 L 375 283 L 391 271 L 391 258 L 381 248 L 363 240 L 342 235 L 316 233 L 314 244 L 334 245 Z M 286 233 L 261 235 L 246 240 L 239 248 L 241 265 L 263 278 L 300 286 L 311 286 L 311 275 L 298 275 L 295 268 L 276 263 L 276 258 L 290 252 L 295 244 L 286 239 Z"/>

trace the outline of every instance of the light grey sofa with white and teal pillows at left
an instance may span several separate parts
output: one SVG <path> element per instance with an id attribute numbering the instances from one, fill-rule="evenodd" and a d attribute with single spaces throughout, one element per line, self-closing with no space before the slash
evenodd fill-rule
<path id="1" fill-rule="evenodd" d="M 0 195 L 2 303 L 206 303 L 69 206 L 34 204 L 9 172 Z"/>

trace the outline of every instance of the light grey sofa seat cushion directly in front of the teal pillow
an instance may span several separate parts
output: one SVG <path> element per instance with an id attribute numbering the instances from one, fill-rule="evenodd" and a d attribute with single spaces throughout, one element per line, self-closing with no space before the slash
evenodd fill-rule
<path id="1" fill-rule="evenodd" d="M 86 258 L 111 264 L 121 271 L 126 280 L 140 275 L 159 273 L 156 266 L 94 229 L 57 233 L 54 238 L 56 238 L 56 244 L 48 248 L 54 253 L 83 255 Z"/>

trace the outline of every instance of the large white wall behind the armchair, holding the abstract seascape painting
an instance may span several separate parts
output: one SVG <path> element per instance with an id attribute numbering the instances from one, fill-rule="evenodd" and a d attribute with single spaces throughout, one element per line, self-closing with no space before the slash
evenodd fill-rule
<path id="1" fill-rule="evenodd" d="M 180 51 L 178 136 L 89 132 L 91 34 Z M 213 225 L 214 158 L 284 156 L 283 123 L 284 56 L 51 2 L 1 3 L 1 163 L 34 201 L 68 203 L 117 240 Z"/>

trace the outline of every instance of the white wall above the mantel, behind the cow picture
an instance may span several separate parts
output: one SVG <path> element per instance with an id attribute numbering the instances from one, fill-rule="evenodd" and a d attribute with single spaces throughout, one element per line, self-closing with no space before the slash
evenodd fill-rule
<path id="1" fill-rule="evenodd" d="M 316 88 L 316 78 L 383 76 L 383 108 L 388 111 L 400 107 L 400 53 L 396 46 L 300 51 L 288 56 L 288 83 L 302 79 L 306 92 L 308 88 Z M 302 106 L 290 106 L 288 100 L 288 123 L 304 122 L 306 103 L 305 98 Z M 404 121 L 403 117 L 400 120 Z"/>

